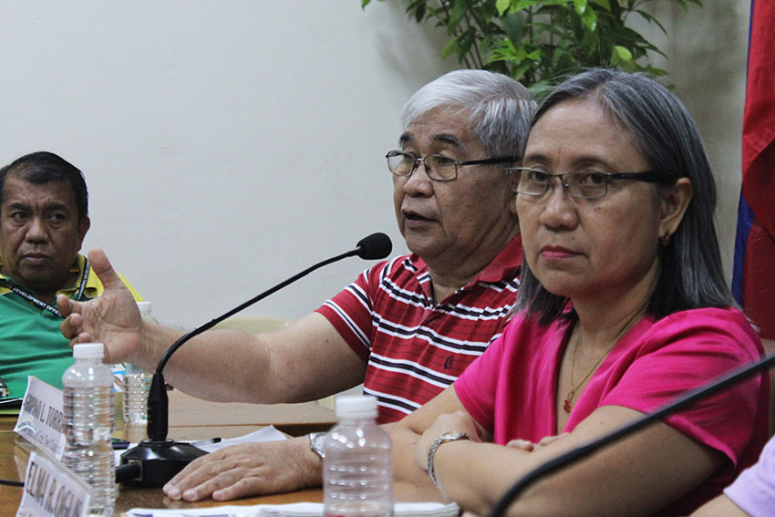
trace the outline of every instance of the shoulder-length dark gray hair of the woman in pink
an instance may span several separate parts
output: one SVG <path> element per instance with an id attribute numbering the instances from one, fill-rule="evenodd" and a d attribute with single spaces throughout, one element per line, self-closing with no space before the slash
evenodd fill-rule
<path id="1" fill-rule="evenodd" d="M 687 212 L 662 250 L 656 289 L 646 313 L 662 318 L 691 308 L 734 305 L 724 281 L 713 221 L 716 182 L 697 126 L 683 103 L 643 74 L 593 69 L 554 88 L 533 115 L 532 126 L 557 104 L 578 98 L 594 99 L 629 131 L 656 174 L 658 188 L 669 189 L 679 178 L 692 184 Z M 543 289 L 528 265 L 522 264 L 516 310 L 528 309 L 548 323 L 563 313 L 566 302 L 565 297 Z"/>

